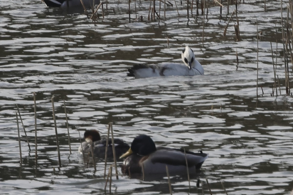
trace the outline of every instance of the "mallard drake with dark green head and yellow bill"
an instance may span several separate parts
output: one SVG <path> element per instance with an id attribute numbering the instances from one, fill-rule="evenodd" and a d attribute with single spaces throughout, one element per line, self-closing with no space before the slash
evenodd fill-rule
<path id="1" fill-rule="evenodd" d="M 128 156 L 128 157 L 127 157 Z M 166 176 L 166 165 L 170 175 L 187 174 L 185 154 L 180 149 L 156 148 L 151 137 L 141 134 L 134 138 L 130 149 L 120 156 L 127 157 L 121 166 L 122 172 L 125 174 L 142 173 L 148 174 L 164 174 Z M 194 153 L 186 151 L 189 173 L 195 173 L 202 163 L 207 159 L 208 154 Z"/>

